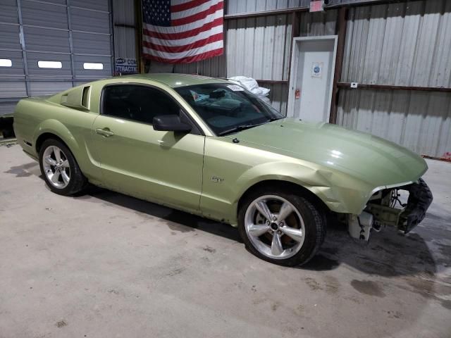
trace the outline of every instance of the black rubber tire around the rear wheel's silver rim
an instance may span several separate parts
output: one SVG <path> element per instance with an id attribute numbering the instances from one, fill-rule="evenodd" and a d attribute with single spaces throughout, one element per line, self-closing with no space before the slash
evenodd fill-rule
<path id="1" fill-rule="evenodd" d="M 45 173 L 43 165 L 43 157 L 45 150 L 49 146 L 57 146 L 59 149 L 61 149 L 61 151 L 63 151 L 63 154 L 66 156 L 68 160 L 70 168 L 70 180 L 66 187 L 63 188 L 54 187 L 54 185 L 51 184 L 49 178 Z M 45 182 L 47 183 L 47 186 L 55 194 L 70 196 L 82 192 L 82 190 L 85 189 L 85 187 L 87 186 L 87 179 L 80 170 L 80 167 L 78 166 L 77 161 L 75 161 L 75 157 L 73 156 L 72 152 L 68 149 L 66 144 L 63 144 L 63 142 L 57 139 L 46 139 L 44 143 L 42 143 L 41 149 L 39 150 L 39 168 L 41 168 L 41 173 L 42 176 L 44 177 Z"/>

